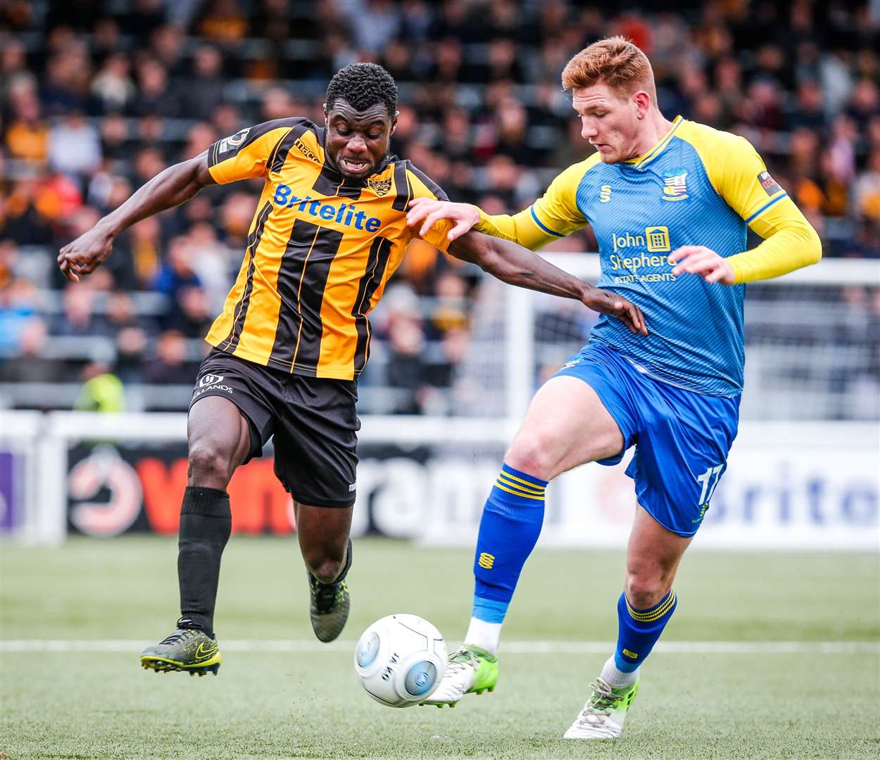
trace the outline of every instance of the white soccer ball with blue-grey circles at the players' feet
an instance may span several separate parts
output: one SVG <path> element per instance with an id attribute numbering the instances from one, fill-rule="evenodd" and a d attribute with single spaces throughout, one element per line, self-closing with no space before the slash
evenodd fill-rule
<path id="1" fill-rule="evenodd" d="M 446 642 L 418 615 L 389 615 L 363 632 L 355 650 L 357 680 L 370 697 L 389 707 L 427 699 L 443 678 Z"/>

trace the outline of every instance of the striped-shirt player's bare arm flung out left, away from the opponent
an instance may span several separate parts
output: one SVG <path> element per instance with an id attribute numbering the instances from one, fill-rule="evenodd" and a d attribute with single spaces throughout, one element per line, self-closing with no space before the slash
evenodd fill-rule
<path id="1" fill-rule="evenodd" d="M 147 216 L 188 201 L 202 187 L 214 185 L 208 171 L 208 151 L 169 166 L 139 187 L 128 201 L 102 217 L 91 230 L 65 245 L 58 253 L 58 267 L 68 280 L 90 274 L 110 256 L 114 239 L 122 230 Z"/>

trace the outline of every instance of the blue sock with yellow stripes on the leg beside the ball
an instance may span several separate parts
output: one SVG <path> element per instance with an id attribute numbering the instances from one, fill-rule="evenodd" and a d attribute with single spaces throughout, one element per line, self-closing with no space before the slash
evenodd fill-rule
<path id="1" fill-rule="evenodd" d="M 473 617 L 478 620 L 503 622 L 541 532 L 546 486 L 546 480 L 502 466 L 483 508 L 473 562 Z"/>

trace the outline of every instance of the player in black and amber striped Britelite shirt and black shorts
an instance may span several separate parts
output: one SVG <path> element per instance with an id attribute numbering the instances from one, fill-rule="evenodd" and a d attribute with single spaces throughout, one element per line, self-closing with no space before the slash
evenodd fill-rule
<path id="1" fill-rule="evenodd" d="M 187 425 L 189 479 L 180 510 L 180 619 L 141 654 L 146 669 L 216 674 L 220 559 L 231 531 L 226 486 L 274 436 L 275 475 L 296 505 L 311 591 L 312 629 L 332 641 L 348 619 L 345 582 L 356 496 L 356 378 L 370 355 L 370 322 L 409 241 L 407 204 L 445 201 L 409 161 L 388 154 L 397 86 L 385 69 L 356 63 L 326 92 L 325 126 L 304 118 L 241 129 L 202 155 L 150 179 L 81 237 L 58 264 L 71 280 L 112 252 L 116 235 L 187 201 L 202 187 L 263 179 L 245 257 L 206 340 Z M 548 265 L 508 241 L 451 225 L 421 237 L 511 284 L 576 298 L 644 333 L 642 314 L 617 296 Z"/>

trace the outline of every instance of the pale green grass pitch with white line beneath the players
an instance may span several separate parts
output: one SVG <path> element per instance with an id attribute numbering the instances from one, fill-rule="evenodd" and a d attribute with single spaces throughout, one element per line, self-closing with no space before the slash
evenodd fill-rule
<path id="1" fill-rule="evenodd" d="M 0 546 L 2 638 L 133 639 L 176 617 L 176 545 L 159 538 Z M 393 611 L 458 643 L 472 554 L 356 542 L 346 639 Z M 622 552 L 536 552 L 507 640 L 612 640 Z M 876 641 L 880 560 L 864 554 L 692 552 L 664 640 Z M 236 537 L 224 639 L 312 639 L 295 539 Z M 503 646 L 503 645 L 502 645 Z M 876 757 L 880 656 L 651 655 L 620 742 L 560 737 L 604 654 L 507 654 L 492 695 L 392 711 L 356 685 L 352 654 L 226 652 L 216 678 L 159 676 L 128 653 L 0 654 L 0 750 L 24 757 Z"/>

